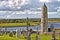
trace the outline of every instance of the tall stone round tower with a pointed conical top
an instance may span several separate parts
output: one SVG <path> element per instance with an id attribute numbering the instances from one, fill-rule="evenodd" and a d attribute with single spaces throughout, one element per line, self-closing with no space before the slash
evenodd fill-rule
<path id="1" fill-rule="evenodd" d="M 42 6 L 42 14 L 41 14 L 41 33 L 46 33 L 48 31 L 48 14 L 47 14 L 47 6 Z"/>

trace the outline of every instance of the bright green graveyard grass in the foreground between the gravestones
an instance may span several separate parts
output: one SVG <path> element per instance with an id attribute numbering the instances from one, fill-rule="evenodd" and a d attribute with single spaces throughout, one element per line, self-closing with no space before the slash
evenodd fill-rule
<path id="1" fill-rule="evenodd" d="M 40 40 L 51 40 L 52 35 L 48 34 L 48 35 L 39 35 L 40 36 Z M 31 34 L 31 40 L 36 40 L 36 34 Z M 58 35 L 56 35 L 56 39 L 60 40 Z M 5 34 L 3 36 L 0 36 L 0 40 L 26 40 L 23 36 L 23 34 L 20 35 L 20 38 L 16 38 L 16 35 L 14 35 L 13 37 L 9 37 L 9 34 Z"/>

